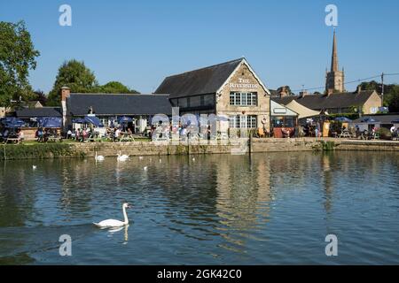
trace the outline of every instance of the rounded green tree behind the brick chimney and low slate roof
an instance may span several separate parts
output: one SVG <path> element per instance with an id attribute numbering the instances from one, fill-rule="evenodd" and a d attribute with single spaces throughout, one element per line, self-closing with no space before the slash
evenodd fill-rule
<path id="1" fill-rule="evenodd" d="M 72 59 L 59 67 L 54 86 L 49 93 L 49 105 L 60 104 L 62 87 L 71 88 L 71 92 L 75 93 L 89 93 L 95 92 L 98 82 L 94 73 L 83 62 Z"/>

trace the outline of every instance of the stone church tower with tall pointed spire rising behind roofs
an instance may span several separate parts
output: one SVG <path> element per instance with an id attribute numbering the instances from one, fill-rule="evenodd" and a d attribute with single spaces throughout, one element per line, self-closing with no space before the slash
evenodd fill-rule
<path id="1" fill-rule="evenodd" d="M 343 69 L 340 71 L 338 67 L 337 39 L 334 30 L 334 37 L 332 41 L 331 70 L 330 72 L 327 72 L 325 76 L 325 90 L 327 94 L 332 94 L 334 91 L 345 92 L 344 80 L 344 71 Z"/>

